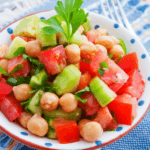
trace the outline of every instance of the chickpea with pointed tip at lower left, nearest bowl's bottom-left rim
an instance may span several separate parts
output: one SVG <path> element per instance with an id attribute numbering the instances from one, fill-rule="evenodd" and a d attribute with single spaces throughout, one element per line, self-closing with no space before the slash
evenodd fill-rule
<path id="1" fill-rule="evenodd" d="M 27 123 L 28 130 L 38 136 L 45 136 L 48 132 L 47 121 L 40 116 L 35 114 Z"/>

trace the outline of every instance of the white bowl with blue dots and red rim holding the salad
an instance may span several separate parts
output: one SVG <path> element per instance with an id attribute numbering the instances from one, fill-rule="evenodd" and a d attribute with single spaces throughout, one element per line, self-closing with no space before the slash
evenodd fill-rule
<path id="1" fill-rule="evenodd" d="M 46 19 L 55 14 L 56 12 L 54 10 L 36 13 L 38 17 L 45 17 Z M 116 131 L 104 132 L 100 139 L 93 143 L 88 143 L 81 139 L 79 142 L 75 143 L 60 144 L 57 140 L 50 140 L 45 137 L 39 138 L 32 135 L 28 130 L 22 128 L 17 123 L 9 122 L 0 112 L 0 128 L 12 138 L 25 145 L 41 149 L 95 149 L 110 144 L 129 133 L 147 113 L 150 107 L 150 59 L 147 51 L 136 37 L 133 37 L 127 29 L 119 26 L 116 22 L 91 12 L 89 13 L 89 17 L 91 18 L 93 27 L 95 25 L 100 25 L 100 27 L 107 29 L 110 35 L 124 40 L 129 52 L 137 53 L 139 70 L 146 80 L 146 84 L 145 91 L 138 100 L 137 117 L 134 119 L 132 126 L 119 125 L 119 128 Z M 22 20 L 22 18 L 11 23 L 0 31 L 0 45 L 10 44 L 10 33 L 16 28 L 20 20 Z"/>

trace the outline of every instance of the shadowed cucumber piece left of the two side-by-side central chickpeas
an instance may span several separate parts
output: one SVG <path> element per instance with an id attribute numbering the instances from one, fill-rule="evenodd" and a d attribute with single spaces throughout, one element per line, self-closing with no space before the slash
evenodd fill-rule
<path id="1" fill-rule="evenodd" d="M 39 90 L 30 100 L 28 105 L 26 106 L 26 109 L 31 112 L 32 114 L 39 113 L 42 115 L 42 108 L 40 106 L 40 100 L 44 92 L 42 90 Z"/>

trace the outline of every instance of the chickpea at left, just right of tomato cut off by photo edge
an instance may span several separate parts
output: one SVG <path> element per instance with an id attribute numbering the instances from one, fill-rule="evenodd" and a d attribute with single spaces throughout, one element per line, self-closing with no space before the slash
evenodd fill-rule
<path id="1" fill-rule="evenodd" d="M 15 98 L 21 102 L 28 100 L 32 96 L 29 93 L 30 91 L 32 91 L 32 88 L 28 84 L 20 84 L 13 87 Z"/>

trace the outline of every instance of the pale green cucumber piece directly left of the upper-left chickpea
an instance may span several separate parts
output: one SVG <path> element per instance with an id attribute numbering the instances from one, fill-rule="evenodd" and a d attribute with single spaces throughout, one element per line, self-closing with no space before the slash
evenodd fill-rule
<path id="1" fill-rule="evenodd" d="M 20 38 L 20 37 L 16 37 L 13 41 L 12 41 L 12 43 L 11 43 L 11 45 L 10 45 L 10 47 L 9 47 L 9 50 L 8 50 L 8 52 L 7 52 L 7 55 L 6 55 L 6 58 L 7 59 L 12 59 L 12 58 L 14 58 L 15 56 L 14 56 L 14 53 L 16 52 L 16 50 L 18 50 L 18 48 L 19 47 L 25 47 L 26 46 L 26 41 L 25 40 L 23 40 L 22 38 Z"/>

